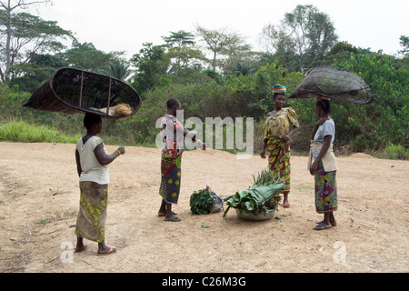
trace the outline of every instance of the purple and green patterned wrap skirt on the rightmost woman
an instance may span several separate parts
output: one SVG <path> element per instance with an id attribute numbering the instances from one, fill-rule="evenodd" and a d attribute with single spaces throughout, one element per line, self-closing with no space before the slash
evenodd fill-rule
<path id="1" fill-rule="evenodd" d="M 315 209 L 319 214 L 338 209 L 336 171 L 325 172 L 322 162 L 320 162 L 315 174 Z"/>

